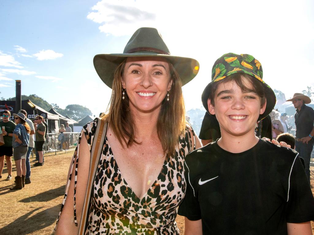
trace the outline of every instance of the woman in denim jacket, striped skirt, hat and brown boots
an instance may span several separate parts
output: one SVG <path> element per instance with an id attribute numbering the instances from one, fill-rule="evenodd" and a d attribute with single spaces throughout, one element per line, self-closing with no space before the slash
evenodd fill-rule
<path id="1" fill-rule="evenodd" d="M 16 127 L 13 131 L 13 158 L 16 166 L 15 186 L 11 190 L 22 189 L 25 186 L 26 153 L 30 140 L 30 126 L 21 112 L 13 114 Z"/>

